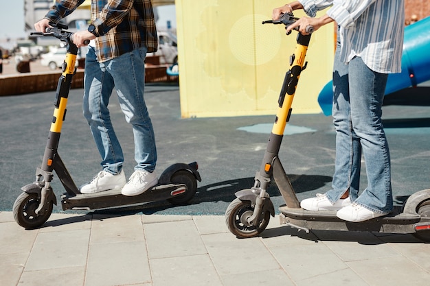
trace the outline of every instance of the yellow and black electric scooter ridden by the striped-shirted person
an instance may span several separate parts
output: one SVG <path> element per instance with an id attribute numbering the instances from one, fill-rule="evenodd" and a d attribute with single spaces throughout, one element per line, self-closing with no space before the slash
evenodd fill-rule
<path id="1" fill-rule="evenodd" d="M 288 27 L 297 21 L 293 14 L 283 14 L 279 20 L 264 23 L 284 24 Z M 308 27 L 308 33 L 313 32 Z M 370 219 L 366 222 L 346 222 L 336 216 L 336 211 L 306 211 L 300 208 L 299 201 L 286 176 L 278 157 L 284 129 L 291 117 L 291 104 L 299 82 L 300 73 L 306 68 L 306 51 L 311 34 L 297 34 L 295 52 L 290 56 L 290 69 L 287 71 L 278 99 L 278 113 L 269 137 L 267 149 L 260 171 L 256 173 L 251 189 L 235 193 L 236 199 L 227 207 L 225 222 L 230 232 L 239 238 L 256 237 L 267 227 L 275 208 L 267 189 L 272 178 L 282 194 L 285 205 L 280 206 L 280 223 L 308 233 L 310 230 L 355 230 L 378 233 L 412 234 L 423 241 L 430 241 L 430 189 L 411 195 L 403 206 L 395 206 L 394 211 Z"/>

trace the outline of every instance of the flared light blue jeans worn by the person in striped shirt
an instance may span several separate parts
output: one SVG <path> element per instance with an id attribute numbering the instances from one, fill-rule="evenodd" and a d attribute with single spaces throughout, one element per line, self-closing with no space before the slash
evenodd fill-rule
<path id="1" fill-rule="evenodd" d="M 375 213 L 392 211 L 389 149 L 381 119 L 387 78 L 387 74 L 369 69 L 360 57 L 344 64 L 339 53 L 335 54 L 332 116 L 336 159 L 332 189 L 326 193 L 332 203 L 349 189 L 351 202 Z M 359 195 L 362 154 L 367 188 Z"/>

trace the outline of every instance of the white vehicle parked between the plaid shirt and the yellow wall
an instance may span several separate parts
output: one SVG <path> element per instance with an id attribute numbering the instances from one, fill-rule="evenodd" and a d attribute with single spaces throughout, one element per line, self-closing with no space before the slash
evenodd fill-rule
<path id="1" fill-rule="evenodd" d="M 159 56 L 160 64 L 174 64 L 178 62 L 177 38 L 169 32 L 157 31 L 158 50 L 146 56 Z"/>

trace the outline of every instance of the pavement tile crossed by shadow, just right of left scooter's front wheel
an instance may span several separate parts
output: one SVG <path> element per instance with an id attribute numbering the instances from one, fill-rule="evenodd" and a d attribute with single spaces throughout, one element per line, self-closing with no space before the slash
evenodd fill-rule
<path id="1" fill-rule="evenodd" d="M 49 220 L 43 224 L 40 232 L 89 229 L 91 228 L 92 218 L 93 215 L 53 213 Z"/>

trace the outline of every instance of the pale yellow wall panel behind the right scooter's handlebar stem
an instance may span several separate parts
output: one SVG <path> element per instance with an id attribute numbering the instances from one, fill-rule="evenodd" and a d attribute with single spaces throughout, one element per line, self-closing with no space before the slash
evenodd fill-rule
<path id="1" fill-rule="evenodd" d="M 262 25 L 279 0 L 176 0 L 182 117 L 271 115 L 296 33 Z M 304 16 L 302 11 L 295 16 Z M 331 79 L 333 25 L 310 40 L 308 67 L 300 76 L 295 113 L 319 113 L 317 96 Z"/>

